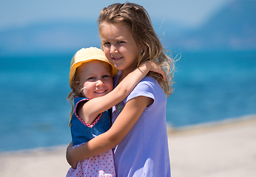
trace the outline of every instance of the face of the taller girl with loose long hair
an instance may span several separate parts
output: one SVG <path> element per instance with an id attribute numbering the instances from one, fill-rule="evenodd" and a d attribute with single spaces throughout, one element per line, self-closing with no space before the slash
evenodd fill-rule
<path id="1" fill-rule="evenodd" d="M 101 42 L 110 63 L 123 74 L 129 74 L 137 67 L 138 48 L 132 32 L 124 25 L 101 24 Z"/>

